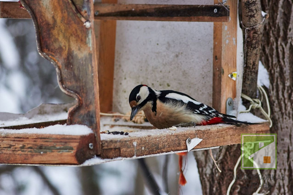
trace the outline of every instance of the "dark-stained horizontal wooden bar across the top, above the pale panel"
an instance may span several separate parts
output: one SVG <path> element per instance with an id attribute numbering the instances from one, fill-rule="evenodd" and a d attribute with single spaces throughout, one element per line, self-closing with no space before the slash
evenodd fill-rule
<path id="1" fill-rule="evenodd" d="M 229 11 L 219 5 L 95 4 L 95 19 L 185 22 L 227 22 Z M 215 11 L 216 9 L 216 11 Z"/>

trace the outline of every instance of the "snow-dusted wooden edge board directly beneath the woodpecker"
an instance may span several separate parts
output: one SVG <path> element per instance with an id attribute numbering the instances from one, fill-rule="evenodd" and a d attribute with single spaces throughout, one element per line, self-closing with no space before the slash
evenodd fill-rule
<path id="1" fill-rule="evenodd" d="M 207 125 L 172 130 L 149 130 L 130 133 L 129 136 L 105 134 L 102 136 L 103 158 L 116 158 L 120 148 L 121 157 L 139 157 L 166 152 L 187 150 L 186 139 L 203 139 L 194 149 L 241 143 L 242 133 L 268 133 L 269 124 L 259 125 Z M 115 149 L 115 150 L 114 150 Z M 111 156 L 113 155 L 113 156 Z"/>

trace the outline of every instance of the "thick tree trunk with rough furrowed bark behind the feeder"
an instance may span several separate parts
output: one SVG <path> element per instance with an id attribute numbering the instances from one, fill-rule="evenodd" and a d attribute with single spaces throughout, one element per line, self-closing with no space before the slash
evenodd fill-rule
<path id="1" fill-rule="evenodd" d="M 263 187 L 260 192 L 293 194 L 293 6 L 292 0 L 261 1 L 263 11 L 269 14 L 269 18 L 264 26 L 260 59 L 270 76 L 271 132 L 277 133 L 277 170 L 261 170 L 261 173 L 285 175 L 285 180 L 266 180 L 271 187 Z M 220 147 L 214 149 L 213 154 L 222 173 L 218 172 L 208 151 L 194 153 L 202 192 L 226 194 L 240 156 L 240 145 Z M 255 170 L 241 170 L 239 166 L 237 174 L 257 173 Z M 253 194 L 256 191 L 251 186 L 253 182 L 259 183 L 259 180 L 237 180 L 230 194 Z"/>

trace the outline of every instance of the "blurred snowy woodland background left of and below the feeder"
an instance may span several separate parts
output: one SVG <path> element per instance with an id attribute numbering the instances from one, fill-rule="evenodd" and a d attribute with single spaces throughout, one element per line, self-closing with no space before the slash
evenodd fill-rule
<path id="1" fill-rule="evenodd" d="M 72 101 L 58 87 L 53 65 L 37 52 L 31 20 L 0 19 L 0 112 L 25 113 L 40 103 Z M 193 153 L 185 167 L 187 184 L 178 188 L 178 156 L 146 158 L 156 182 L 163 187 L 168 158 L 169 194 L 202 194 Z M 91 167 L 0 165 L 0 194 L 91 195 L 150 194 L 137 160 Z"/>

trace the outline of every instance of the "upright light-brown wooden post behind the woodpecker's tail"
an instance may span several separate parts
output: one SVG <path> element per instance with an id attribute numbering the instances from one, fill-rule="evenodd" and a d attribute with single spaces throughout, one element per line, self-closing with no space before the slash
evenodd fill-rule
<path id="1" fill-rule="evenodd" d="M 230 7 L 229 22 L 214 23 L 213 107 L 221 113 L 226 113 L 227 99 L 236 97 L 236 81 L 228 75 L 236 72 L 237 67 L 237 3 L 226 1 Z"/>

